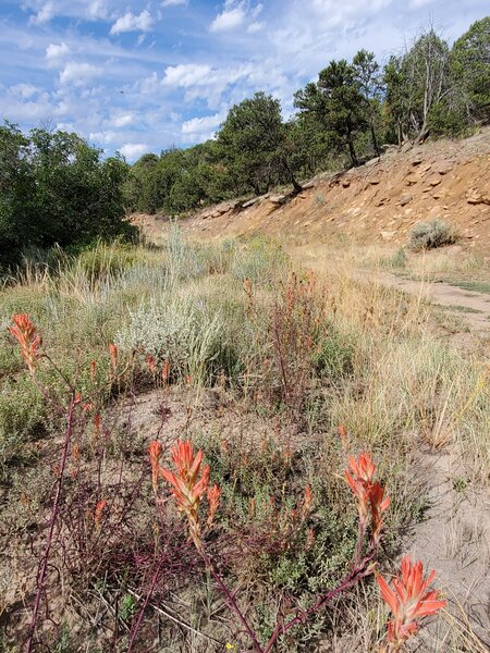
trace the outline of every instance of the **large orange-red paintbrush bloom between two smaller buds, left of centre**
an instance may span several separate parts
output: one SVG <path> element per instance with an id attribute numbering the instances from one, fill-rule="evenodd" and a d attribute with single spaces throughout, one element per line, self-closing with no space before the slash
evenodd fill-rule
<path id="1" fill-rule="evenodd" d="M 200 473 L 203 463 L 203 452 L 197 452 L 194 456 L 194 448 L 191 442 L 176 441 L 172 447 L 172 460 L 176 468 L 176 473 L 160 468 L 161 476 L 172 485 L 172 494 L 175 497 L 179 510 L 185 513 L 191 538 L 200 551 L 203 544 L 200 541 L 200 522 L 198 508 L 209 483 L 209 466 L 206 466 Z"/>

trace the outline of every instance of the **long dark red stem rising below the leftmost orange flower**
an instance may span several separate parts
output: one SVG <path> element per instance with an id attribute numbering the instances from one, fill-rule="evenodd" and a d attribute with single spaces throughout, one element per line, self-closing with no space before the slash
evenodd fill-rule
<path id="1" fill-rule="evenodd" d="M 66 419 L 66 431 L 65 431 L 65 435 L 64 435 L 63 449 L 61 452 L 60 471 L 58 473 L 58 479 L 56 482 L 54 500 L 52 502 L 51 518 L 49 520 L 48 539 L 46 541 L 45 551 L 42 553 L 42 557 L 40 559 L 39 568 L 38 568 L 38 572 L 37 572 L 37 592 L 36 592 L 36 599 L 34 602 L 33 617 L 30 619 L 30 625 L 29 625 L 29 629 L 28 629 L 28 633 L 27 633 L 27 642 L 25 645 L 26 653 L 30 653 L 30 651 L 32 651 L 34 634 L 36 632 L 37 616 L 39 614 L 40 600 L 41 600 L 41 595 L 44 594 L 44 591 L 45 591 L 46 571 L 48 569 L 49 553 L 51 551 L 51 544 L 52 544 L 52 539 L 53 539 L 53 534 L 54 534 L 54 527 L 56 527 L 57 518 L 58 518 L 58 508 L 59 508 L 60 498 L 61 498 L 61 489 L 63 485 L 64 469 L 66 467 L 68 453 L 69 453 L 69 448 L 70 448 L 70 442 L 72 439 L 73 411 L 75 409 L 75 403 L 76 403 L 76 399 L 75 399 L 75 395 L 73 393 L 72 398 L 70 401 L 70 408 L 69 408 L 69 414 L 68 414 L 68 419 Z"/>

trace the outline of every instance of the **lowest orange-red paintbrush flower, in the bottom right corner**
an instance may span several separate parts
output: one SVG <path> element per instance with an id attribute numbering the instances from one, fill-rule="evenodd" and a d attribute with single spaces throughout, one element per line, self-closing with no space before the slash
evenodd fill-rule
<path id="1" fill-rule="evenodd" d="M 438 590 L 427 591 L 434 577 L 436 571 L 431 571 L 424 579 L 421 562 L 413 563 L 408 555 L 402 559 L 401 574 L 393 580 L 393 589 L 381 575 L 377 576 L 381 596 L 393 614 L 388 624 L 388 638 L 394 651 L 399 651 L 405 640 L 417 632 L 417 617 L 433 615 L 445 607 L 446 601 L 438 600 Z"/>

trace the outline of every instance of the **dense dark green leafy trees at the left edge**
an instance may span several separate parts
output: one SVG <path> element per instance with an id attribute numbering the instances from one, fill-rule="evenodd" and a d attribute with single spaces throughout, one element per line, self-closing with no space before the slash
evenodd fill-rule
<path id="1" fill-rule="evenodd" d="M 34 248 L 132 233 L 123 195 L 130 167 L 101 155 L 76 134 L 0 125 L 0 272 Z"/>

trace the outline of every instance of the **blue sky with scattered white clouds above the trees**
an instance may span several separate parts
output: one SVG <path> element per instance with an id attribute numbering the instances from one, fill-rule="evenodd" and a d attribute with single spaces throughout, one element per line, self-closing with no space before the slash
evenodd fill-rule
<path id="1" fill-rule="evenodd" d="M 231 106 L 293 94 L 360 48 L 452 41 L 488 0 L 0 0 L 0 120 L 76 132 L 127 161 L 212 137 Z"/>

